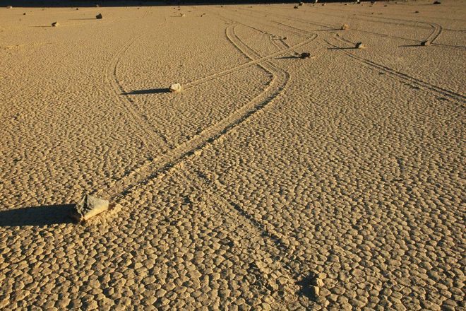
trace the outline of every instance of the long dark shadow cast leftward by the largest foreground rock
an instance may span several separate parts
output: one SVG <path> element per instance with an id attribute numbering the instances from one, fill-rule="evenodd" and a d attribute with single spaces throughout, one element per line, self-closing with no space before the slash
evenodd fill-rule
<path id="1" fill-rule="evenodd" d="M 0 227 L 44 226 L 73 223 L 70 217 L 76 204 L 28 206 L 0 211 Z"/>

